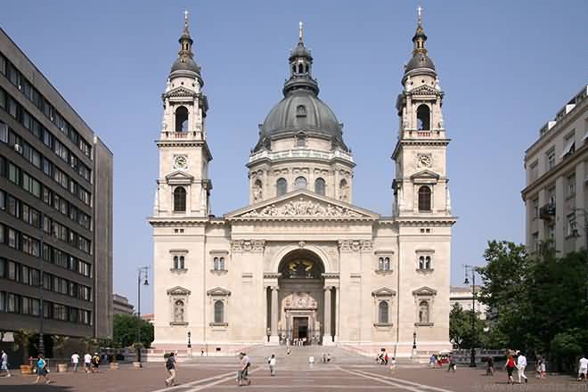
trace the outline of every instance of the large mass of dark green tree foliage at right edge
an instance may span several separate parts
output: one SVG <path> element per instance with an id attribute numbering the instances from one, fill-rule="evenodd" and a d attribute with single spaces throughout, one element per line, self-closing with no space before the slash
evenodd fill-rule
<path id="1" fill-rule="evenodd" d="M 586 252 L 557 257 L 551 243 L 528 255 L 523 245 L 490 241 L 486 266 L 478 268 L 489 306 L 494 343 L 555 355 L 563 363 L 588 350 L 588 263 Z"/>

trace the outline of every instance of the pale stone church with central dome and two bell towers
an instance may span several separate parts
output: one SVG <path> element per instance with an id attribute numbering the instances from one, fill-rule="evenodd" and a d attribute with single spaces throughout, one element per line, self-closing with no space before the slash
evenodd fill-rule
<path id="1" fill-rule="evenodd" d="M 419 18 L 399 75 L 392 216 L 354 204 L 354 158 L 319 98 L 302 27 L 283 99 L 251 140 L 249 205 L 213 216 L 208 100 L 185 20 L 156 142 L 153 347 L 185 350 L 190 339 L 197 351 L 228 354 L 301 339 L 396 356 L 451 347 L 456 218 L 444 93 L 426 41 Z"/>

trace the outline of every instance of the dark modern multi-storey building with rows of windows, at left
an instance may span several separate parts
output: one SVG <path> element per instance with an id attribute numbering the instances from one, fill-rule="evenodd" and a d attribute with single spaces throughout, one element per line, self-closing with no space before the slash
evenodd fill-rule
<path id="1" fill-rule="evenodd" d="M 108 338 L 111 293 L 112 153 L 0 29 L 0 331 Z"/>

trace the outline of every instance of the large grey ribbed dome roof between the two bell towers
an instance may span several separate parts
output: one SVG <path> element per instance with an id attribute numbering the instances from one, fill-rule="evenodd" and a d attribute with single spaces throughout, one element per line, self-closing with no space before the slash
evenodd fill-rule
<path id="1" fill-rule="evenodd" d="M 306 131 L 342 139 L 341 124 L 335 113 L 312 92 L 296 90 L 274 106 L 263 125 L 261 138 Z"/>

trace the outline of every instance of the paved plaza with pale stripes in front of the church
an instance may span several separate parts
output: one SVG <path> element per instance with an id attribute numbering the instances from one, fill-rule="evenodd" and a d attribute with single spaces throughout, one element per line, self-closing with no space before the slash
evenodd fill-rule
<path id="1" fill-rule="evenodd" d="M 148 363 L 143 369 L 123 366 L 118 371 L 104 369 L 94 374 L 52 372 L 52 383 L 49 385 L 31 385 L 35 380 L 33 376 L 0 378 L 0 391 L 588 391 L 588 384 L 569 376 L 549 376 L 546 380 L 529 378 L 527 385 L 509 386 L 504 372 L 486 377 L 482 368 L 458 367 L 457 372 L 448 373 L 423 365 L 401 364 L 392 372 L 388 367 L 375 363 L 314 363 L 312 366 L 293 363 L 292 369 L 288 365 L 290 358 L 280 359 L 275 377 L 270 376 L 265 363 L 254 365 L 249 387 L 237 386 L 237 366 L 234 364 L 180 363 L 176 379 L 178 385 L 165 388 L 163 380 L 167 376 L 163 363 Z"/>

